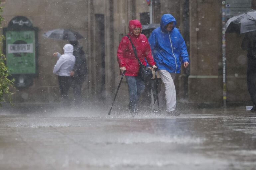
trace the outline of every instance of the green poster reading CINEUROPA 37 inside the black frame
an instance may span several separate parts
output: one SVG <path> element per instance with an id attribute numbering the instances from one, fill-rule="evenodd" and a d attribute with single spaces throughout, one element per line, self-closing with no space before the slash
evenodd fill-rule
<path id="1" fill-rule="evenodd" d="M 6 31 L 5 36 L 10 74 L 36 74 L 35 31 Z"/>

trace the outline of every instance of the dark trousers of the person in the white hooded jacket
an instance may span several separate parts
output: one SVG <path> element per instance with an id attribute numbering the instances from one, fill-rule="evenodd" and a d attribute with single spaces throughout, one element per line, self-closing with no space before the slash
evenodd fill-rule
<path id="1" fill-rule="evenodd" d="M 67 92 L 70 88 L 73 78 L 70 76 L 58 76 L 60 92 L 63 99 L 67 99 Z"/>

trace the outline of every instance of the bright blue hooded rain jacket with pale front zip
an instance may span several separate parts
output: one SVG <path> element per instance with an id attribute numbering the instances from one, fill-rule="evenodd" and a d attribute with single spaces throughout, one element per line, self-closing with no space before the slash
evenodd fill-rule
<path id="1" fill-rule="evenodd" d="M 173 29 L 168 31 L 165 26 L 173 23 Z M 187 46 L 171 14 L 164 14 L 160 27 L 154 29 L 149 37 L 149 44 L 158 69 L 170 73 L 181 72 L 181 61 L 189 62 Z"/>

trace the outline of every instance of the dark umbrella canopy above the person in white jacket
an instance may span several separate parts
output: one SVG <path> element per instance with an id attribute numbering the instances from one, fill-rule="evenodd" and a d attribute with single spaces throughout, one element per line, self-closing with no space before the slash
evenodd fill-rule
<path id="1" fill-rule="evenodd" d="M 43 36 L 47 38 L 52 38 L 52 39 L 61 39 L 61 40 L 78 40 L 83 38 L 83 36 L 73 30 L 70 29 L 53 29 L 45 32 Z"/>

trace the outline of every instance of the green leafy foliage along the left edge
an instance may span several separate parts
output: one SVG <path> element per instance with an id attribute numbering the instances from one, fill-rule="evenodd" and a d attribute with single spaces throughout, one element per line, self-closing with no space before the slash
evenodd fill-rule
<path id="1" fill-rule="evenodd" d="M 2 12 L 2 7 L 0 6 L 0 13 L 1 12 Z M 0 25 L 3 20 L 4 20 L 3 17 L 0 15 Z M 2 43 L 3 40 L 4 40 L 4 36 L 0 35 L 0 43 Z M 14 83 L 13 83 L 14 80 L 9 80 L 7 78 L 9 76 L 9 73 L 5 65 L 5 61 L 6 61 L 6 57 L 4 56 L 4 54 L 2 53 L 2 49 L 0 48 L 0 102 L 7 100 L 10 103 L 12 103 L 11 95 L 13 93 L 11 93 L 9 90 L 10 90 L 10 87 L 14 86 Z M 0 103 L 0 106 L 1 106 L 1 103 Z"/>

